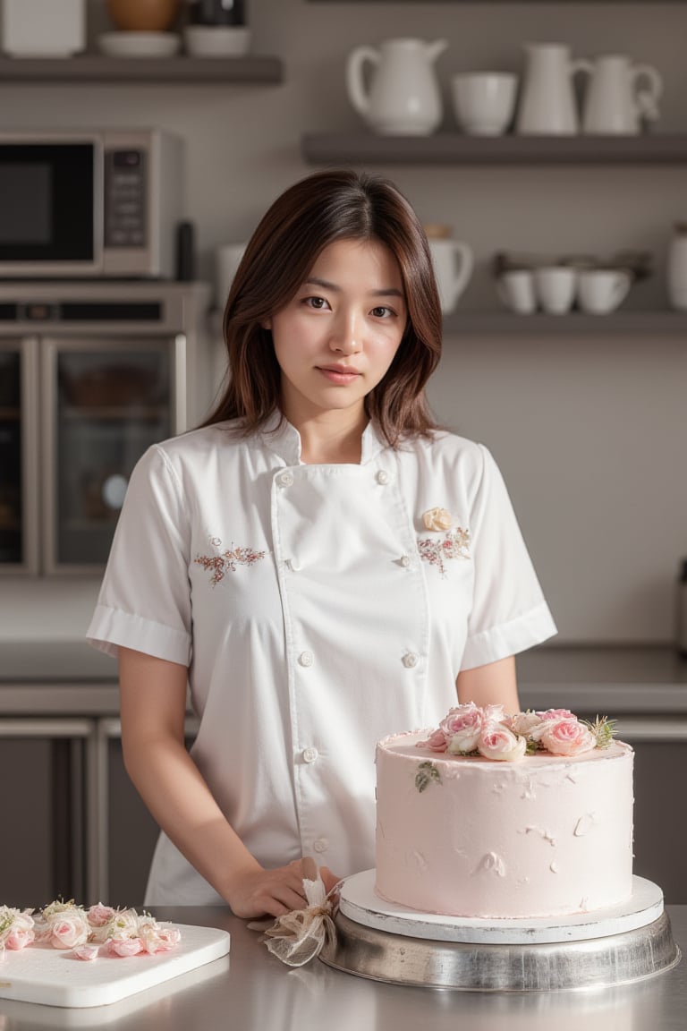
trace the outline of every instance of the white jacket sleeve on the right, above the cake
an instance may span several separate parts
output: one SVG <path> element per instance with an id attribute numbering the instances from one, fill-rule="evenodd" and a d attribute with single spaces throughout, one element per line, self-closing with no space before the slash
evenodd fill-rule
<path id="1" fill-rule="evenodd" d="M 556 633 L 506 485 L 478 445 L 482 474 L 471 510 L 474 594 L 461 669 L 516 655 Z"/>

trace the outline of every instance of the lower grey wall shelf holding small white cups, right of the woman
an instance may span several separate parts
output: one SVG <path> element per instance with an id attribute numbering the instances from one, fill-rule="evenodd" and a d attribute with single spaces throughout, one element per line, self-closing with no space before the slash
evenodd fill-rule
<path id="1" fill-rule="evenodd" d="M 687 312 L 673 310 L 637 311 L 620 309 L 607 315 L 590 315 L 572 311 L 564 315 L 537 312 L 518 315 L 510 311 L 457 310 L 444 320 L 445 336 L 605 336 L 615 333 L 673 334 L 687 338 Z"/>

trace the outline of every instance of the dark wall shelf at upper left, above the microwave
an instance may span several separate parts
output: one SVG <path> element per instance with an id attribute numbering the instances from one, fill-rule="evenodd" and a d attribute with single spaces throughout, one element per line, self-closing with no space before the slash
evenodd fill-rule
<path id="1" fill-rule="evenodd" d="M 0 58 L 1 82 L 281 82 L 279 58 Z"/>

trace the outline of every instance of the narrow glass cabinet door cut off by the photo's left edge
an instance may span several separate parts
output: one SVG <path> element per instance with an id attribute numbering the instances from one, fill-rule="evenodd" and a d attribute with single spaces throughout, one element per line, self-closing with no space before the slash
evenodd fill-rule
<path id="1" fill-rule="evenodd" d="M 37 567 L 36 340 L 0 340 L 0 571 Z"/>

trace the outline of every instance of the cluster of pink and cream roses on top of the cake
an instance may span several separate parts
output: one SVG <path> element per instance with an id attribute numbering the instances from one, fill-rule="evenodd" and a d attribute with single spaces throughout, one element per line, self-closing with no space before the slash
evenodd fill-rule
<path id="1" fill-rule="evenodd" d="M 579 756 L 608 747 L 615 734 L 615 722 L 606 717 L 596 717 L 594 723 L 578 720 L 570 709 L 506 716 L 503 705 L 480 707 L 468 702 L 450 709 L 430 737 L 417 742 L 417 747 L 504 762 L 538 752 Z"/>

